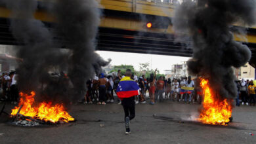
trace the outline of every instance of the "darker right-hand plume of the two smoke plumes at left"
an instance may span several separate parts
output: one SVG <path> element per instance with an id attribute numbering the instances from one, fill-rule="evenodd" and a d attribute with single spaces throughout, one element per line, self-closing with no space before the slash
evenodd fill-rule
<path id="1" fill-rule="evenodd" d="M 86 81 L 108 65 L 95 54 L 95 37 L 100 24 L 100 11 L 95 0 L 62 0 L 54 7 L 58 28 L 67 48 L 72 50 L 68 75 L 74 84 L 75 96 L 85 94 Z"/>

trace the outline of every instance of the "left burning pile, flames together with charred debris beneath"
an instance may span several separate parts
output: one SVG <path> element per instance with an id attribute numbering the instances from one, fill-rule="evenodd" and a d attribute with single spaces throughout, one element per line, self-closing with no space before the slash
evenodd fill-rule
<path id="1" fill-rule="evenodd" d="M 20 92 L 20 102 L 18 107 L 12 109 L 14 122 L 22 126 L 37 126 L 42 123 L 62 124 L 72 122 L 71 117 L 63 104 L 51 102 L 35 103 L 35 92 L 24 94 Z"/>

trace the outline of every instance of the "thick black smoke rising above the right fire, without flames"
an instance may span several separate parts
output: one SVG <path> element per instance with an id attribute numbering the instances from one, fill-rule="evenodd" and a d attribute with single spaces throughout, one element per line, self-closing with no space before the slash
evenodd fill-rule
<path id="1" fill-rule="evenodd" d="M 222 98 L 234 98 L 233 67 L 241 67 L 251 58 L 246 45 L 234 41 L 232 24 L 255 24 L 255 0 L 208 0 L 198 6 L 183 1 L 175 11 L 173 25 L 178 33 L 189 33 L 194 44 L 188 71 L 209 79 L 209 84 Z"/>

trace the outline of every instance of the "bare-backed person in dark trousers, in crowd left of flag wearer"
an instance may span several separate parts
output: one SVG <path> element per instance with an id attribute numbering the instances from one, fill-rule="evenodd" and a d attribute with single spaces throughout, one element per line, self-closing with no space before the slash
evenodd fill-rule
<path id="1" fill-rule="evenodd" d="M 100 79 L 98 79 L 98 92 L 99 92 L 99 97 L 98 97 L 98 105 L 106 105 L 106 84 L 107 80 L 104 77 L 104 73 L 100 73 Z"/>

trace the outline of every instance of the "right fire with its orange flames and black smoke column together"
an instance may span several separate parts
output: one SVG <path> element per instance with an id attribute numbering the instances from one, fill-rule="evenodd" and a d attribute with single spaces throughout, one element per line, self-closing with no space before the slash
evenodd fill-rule
<path id="1" fill-rule="evenodd" d="M 204 100 L 198 120 L 204 124 L 230 122 L 232 99 L 237 96 L 232 68 L 242 67 L 251 59 L 251 50 L 235 41 L 234 33 L 242 35 L 242 29 L 256 24 L 255 5 L 256 1 L 250 0 L 188 0 L 175 8 L 175 33 L 181 37 L 188 33 L 193 45 L 188 72 L 207 78 L 200 82 Z"/>

